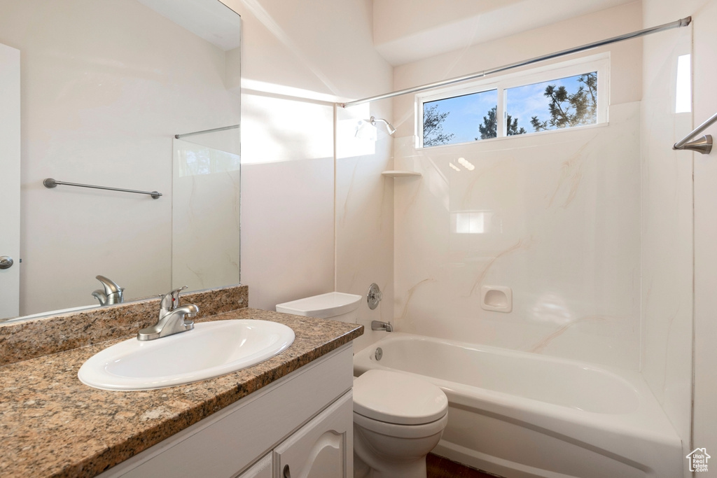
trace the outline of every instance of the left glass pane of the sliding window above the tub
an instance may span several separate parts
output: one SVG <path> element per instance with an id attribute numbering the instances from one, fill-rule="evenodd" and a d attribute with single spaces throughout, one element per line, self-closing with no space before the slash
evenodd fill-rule
<path id="1" fill-rule="evenodd" d="M 495 138 L 498 90 L 423 104 L 423 145 L 467 143 Z"/>

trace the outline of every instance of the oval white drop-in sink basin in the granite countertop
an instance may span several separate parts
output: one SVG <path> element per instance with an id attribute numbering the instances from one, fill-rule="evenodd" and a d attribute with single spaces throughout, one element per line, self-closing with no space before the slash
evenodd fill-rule
<path id="1" fill-rule="evenodd" d="M 235 372 L 267 360 L 294 331 L 267 320 L 217 320 L 156 340 L 125 340 L 92 355 L 77 376 L 103 390 L 149 390 Z"/>

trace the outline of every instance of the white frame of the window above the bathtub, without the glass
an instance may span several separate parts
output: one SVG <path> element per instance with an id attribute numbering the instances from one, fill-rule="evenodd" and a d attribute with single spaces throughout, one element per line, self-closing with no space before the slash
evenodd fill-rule
<path id="1" fill-rule="evenodd" d="M 512 135 L 510 138 L 563 132 L 566 130 L 574 130 L 576 128 L 593 128 L 597 125 L 607 124 L 609 113 L 609 59 L 609 52 L 605 52 L 588 57 L 571 59 L 566 62 L 544 65 L 541 67 L 526 67 L 525 70 L 521 70 L 519 72 L 508 73 L 505 75 L 491 75 L 487 78 L 473 80 L 460 85 L 450 85 L 437 90 L 419 92 L 415 95 L 414 99 L 416 118 L 414 135 L 416 138 L 416 148 L 440 148 L 446 146 L 483 143 L 484 141 L 505 140 L 505 138 L 509 138 L 508 135 L 505 135 L 505 123 L 507 119 L 507 113 L 505 111 L 506 90 L 514 87 L 561 80 L 562 78 L 574 77 L 588 72 L 597 72 L 597 123 L 592 125 L 573 126 L 570 128 L 556 128 L 545 131 L 528 131 L 523 135 Z M 498 121 L 498 131 L 495 138 L 435 146 L 423 145 L 424 103 L 447 100 L 452 97 L 472 95 L 473 93 L 486 92 L 490 90 L 498 90 L 498 109 L 496 110 L 496 118 L 500 118 L 500 121 Z"/>

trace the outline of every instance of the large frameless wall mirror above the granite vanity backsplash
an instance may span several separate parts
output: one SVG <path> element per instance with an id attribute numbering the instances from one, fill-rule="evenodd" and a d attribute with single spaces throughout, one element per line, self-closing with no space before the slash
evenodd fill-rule
<path id="1" fill-rule="evenodd" d="M 239 124 L 240 31 L 219 0 L 0 0 L 20 57 L 14 315 L 98 305 L 97 275 L 125 302 L 239 283 L 239 129 L 186 133 Z"/>

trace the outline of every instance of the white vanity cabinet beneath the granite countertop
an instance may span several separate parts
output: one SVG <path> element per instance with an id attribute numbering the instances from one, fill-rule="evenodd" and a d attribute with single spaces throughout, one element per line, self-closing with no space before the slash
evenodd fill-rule
<path id="1" fill-rule="evenodd" d="M 353 477 L 352 385 L 348 343 L 100 477 Z"/>

